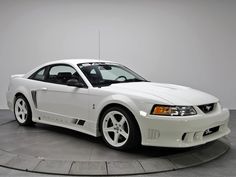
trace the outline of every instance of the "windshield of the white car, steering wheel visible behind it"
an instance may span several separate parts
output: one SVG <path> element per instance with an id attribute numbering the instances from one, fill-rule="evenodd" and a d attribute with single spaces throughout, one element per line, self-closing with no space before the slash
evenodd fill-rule
<path id="1" fill-rule="evenodd" d="M 135 72 L 118 64 L 82 63 L 78 64 L 78 67 L 94 87 L 124 82 L 146 82 Z"/>

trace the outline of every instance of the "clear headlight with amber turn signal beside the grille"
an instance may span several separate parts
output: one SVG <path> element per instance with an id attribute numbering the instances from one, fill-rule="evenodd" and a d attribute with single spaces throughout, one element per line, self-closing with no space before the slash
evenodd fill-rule
<path id="1" fill-rule="evenodd" d="M 161 116 L 192 116 L 196 115 L 197 112 L 192 106 L 154 105 L 151 114 Z"/>

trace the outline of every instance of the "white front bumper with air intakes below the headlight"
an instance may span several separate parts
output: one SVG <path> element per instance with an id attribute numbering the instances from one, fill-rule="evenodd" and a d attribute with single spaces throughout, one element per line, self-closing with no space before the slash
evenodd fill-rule
<path id="1" fill-rule="evenodd" d="M 192 147 L 219 139 L 230 133 L 228 121 L 228 109 L 185 117 L 148 115 L 138 120 L 142 145 L 159 147 Z M 204 135 L 214 127 L 217 131 Z"/>

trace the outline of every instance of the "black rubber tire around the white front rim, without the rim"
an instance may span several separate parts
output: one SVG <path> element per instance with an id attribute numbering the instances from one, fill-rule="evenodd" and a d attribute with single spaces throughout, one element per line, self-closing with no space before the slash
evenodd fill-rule
<path id="1" fill-rule="evenodd" d="M 120 112 L 121 114 L 123 114 L 127 120 L 128 123 L 128 127 L 129 127 L 129 135 L 128 135 L 128 139 L 125 142 L 125 144 L 123 144 L 120 147 L 116 147 L 113 146 L 112 144 L 110 144 L 104 134 L 104 130 L 103 130 L 103 123 L 104 123 L 104 119 L 106 117 L 106 115 L 112 111 L 117 111 Z M 140 135 L 140 131 L 139 131 L 139 127 L 135 121 L 135 118 L 133 116 L 132 113 L 130 113 L 127 109 L 123 108 L 123 107 L 111 107 L 109 109 L 107 109 L 103 114 L 102 117 L 100 119 L 100 131 L 102 134 L 102 138 L 104 140 L 104 142 L 106 143 L 106 145 L 112 149 L 116 149 L 116 150 L 130 150 L 130 149 L 136 149 L 140 146 L 141 144 L 141 135 Z M 115 135 L 114 135 L 115 136 Z"/>

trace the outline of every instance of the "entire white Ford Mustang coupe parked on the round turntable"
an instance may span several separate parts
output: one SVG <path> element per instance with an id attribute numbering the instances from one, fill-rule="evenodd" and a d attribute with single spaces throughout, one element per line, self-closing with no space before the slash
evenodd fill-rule
<path id="1" fill-rule="evenodd" d="M 153 83 L 109 61 L 70 59 L 11 76 L 7 103 L 35 122 L 102 136 L 114 149 L 191 147 L 229 134 L 229 111 L 188 87 Z"/>

